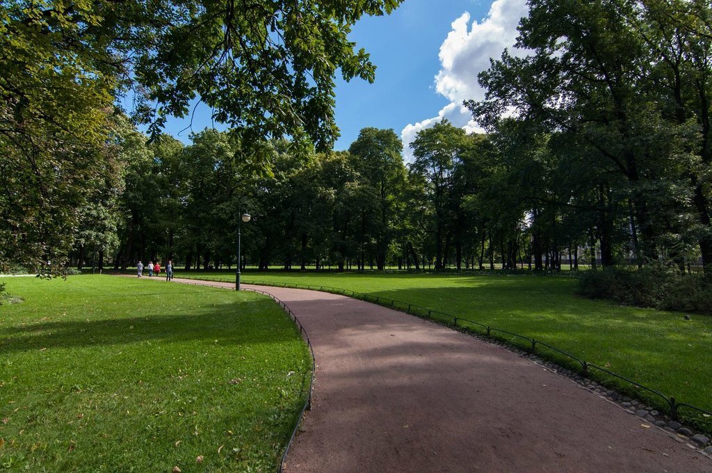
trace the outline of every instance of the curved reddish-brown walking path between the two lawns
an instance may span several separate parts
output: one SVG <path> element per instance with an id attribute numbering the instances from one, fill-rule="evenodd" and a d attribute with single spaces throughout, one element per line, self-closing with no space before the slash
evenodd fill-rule
<path id="1" fill-rule="evenodd" d="M 681 439 L 496 345 L 345 296 L 244 286 L 292 309 L 318 364 L 288 473 L 712 472 Z"/>

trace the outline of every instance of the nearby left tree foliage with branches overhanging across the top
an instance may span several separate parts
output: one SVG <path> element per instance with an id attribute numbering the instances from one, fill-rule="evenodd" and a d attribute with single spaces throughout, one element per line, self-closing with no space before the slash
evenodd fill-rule
<path id="1" fill-rule="evenodd" d="M 245 150 L 255 145 L 243 157 L 256 167 L 270 137 L 328 148 L 337 69 L 346 80 L 375 73 L 350 27 L 401 1 L 2 2 L 0 264 L 63 261 L 82 182 L 103 168 L 111 105 L 127 93 L 152 137 L 199 96 Z"/>

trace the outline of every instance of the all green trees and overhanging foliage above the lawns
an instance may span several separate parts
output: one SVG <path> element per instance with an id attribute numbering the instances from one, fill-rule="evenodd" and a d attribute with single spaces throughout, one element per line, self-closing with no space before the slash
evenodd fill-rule
<path id="1" fill-rule="evenodd" d="M 335 73 L 374 72 L 350 25 L 399 3 L 5 2 L 0 264 L 712 271 L 708 2 L 530 0 L 528 54 L 466 103 L 486 134 L 438 123 L 409 165 L 393 130 L 333 152 Z M 159 132 L 198 97 L 228 131 Z"/>

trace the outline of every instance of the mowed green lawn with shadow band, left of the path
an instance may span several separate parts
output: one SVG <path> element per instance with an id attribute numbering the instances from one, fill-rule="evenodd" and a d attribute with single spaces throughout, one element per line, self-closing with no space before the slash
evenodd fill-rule
<path id="1" fill-rule="evenodd" d="M 311 361 L 271 299 L 164 279 L 1 282 L 25 301 L 0 306 L 0 470 L 276 470 Z"/>

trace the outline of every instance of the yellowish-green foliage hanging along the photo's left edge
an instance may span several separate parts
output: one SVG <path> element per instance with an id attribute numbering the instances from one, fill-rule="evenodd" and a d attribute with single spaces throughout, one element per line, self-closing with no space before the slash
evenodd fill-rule
<path id="1" fill-rule="evenodd" d="M 0 266 L 61 273 L 78 209 L 113 167 L 102 21 L 88 2 L 0 6 Z"/>

